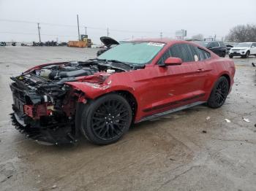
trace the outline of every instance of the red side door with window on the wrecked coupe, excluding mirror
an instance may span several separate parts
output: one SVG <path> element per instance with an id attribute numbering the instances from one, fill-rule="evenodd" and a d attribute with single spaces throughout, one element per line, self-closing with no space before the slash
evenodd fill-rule
<path id="1" fill-rule="evenodd" d="M 163 66 L 170 56 L 181 58 L 183 63 Z M 151 101 L 144 106 L 143 112 L 150 115 L 202 101 L 206 73 L 201 62 L 197 52 L 193 55 L 189 44 L 174 44 L 170 47 L 154 67 L 151 92 L 147 95 Z"/>

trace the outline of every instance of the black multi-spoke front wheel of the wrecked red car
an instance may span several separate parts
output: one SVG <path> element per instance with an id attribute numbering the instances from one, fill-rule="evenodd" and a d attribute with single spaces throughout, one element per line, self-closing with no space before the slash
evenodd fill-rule
<path id="1" fill-rule="evenodd" d="M 80 131 L 93 144 L 112 144 L 129 130 L 132 109 L 121 95 L 110 93 L 84 104 L 80 114 Z"/>

